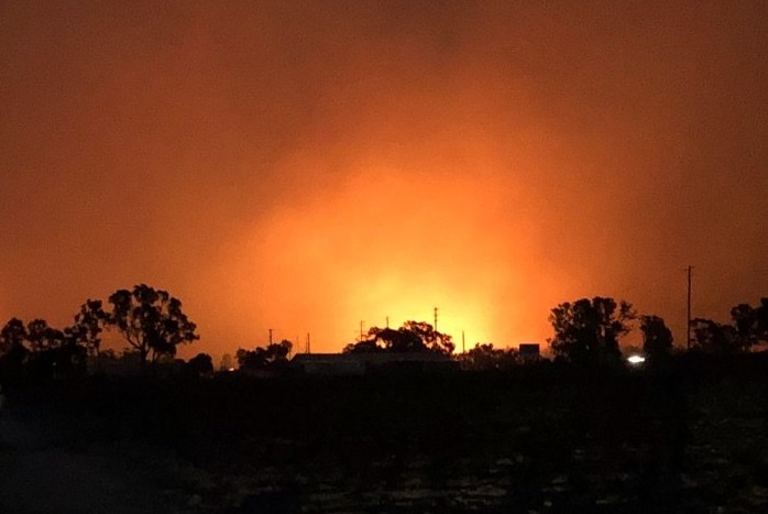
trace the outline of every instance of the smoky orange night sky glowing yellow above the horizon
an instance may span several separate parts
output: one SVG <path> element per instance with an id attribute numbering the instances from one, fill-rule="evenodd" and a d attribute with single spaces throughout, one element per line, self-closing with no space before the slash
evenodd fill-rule
<path id="1" fill-rule="evenodd" d="M 682 342 L 768 296 L 768 2 L 3 1 L 0 321 L 147 283 L 199 351 L 431 321 Z M 459 342 L 460 347 L 460 342 Z"/>

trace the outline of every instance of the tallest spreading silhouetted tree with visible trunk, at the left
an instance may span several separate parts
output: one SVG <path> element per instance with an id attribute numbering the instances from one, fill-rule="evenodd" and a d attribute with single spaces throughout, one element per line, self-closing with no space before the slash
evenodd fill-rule
<path id="1" fill-rule="evenodd" d="M 119 289 L 109 297 L 112 309 L 107 315 L 128 343 L 139 351 L 142 364 L 152 356 L 175 356 L 176 347 L 199 339 L 197 326 L 182 310 L 182 302 L 165 291 L 146 284 L 132 291 Z"/>

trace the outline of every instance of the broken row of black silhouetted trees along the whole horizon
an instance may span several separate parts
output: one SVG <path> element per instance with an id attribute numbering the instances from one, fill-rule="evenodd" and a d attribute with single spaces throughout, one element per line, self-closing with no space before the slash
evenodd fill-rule
<path id="1" fill-rule="evenodd" d="M 635 329 L 641 333 L 646 368 L 667 365 L 672 356 L 687 351 L 743 354 L 768 341 L 768 298 L 761 298 L 757 306 L 734 306 L 728 322 L 694 318 L 691 339 L 677 347 L 661 317 L 640 315 L 628 302 L 611 297 L 595 296 L 559 304 L 551 309 L 548 319 L 553 330 L 548 339 L 553 362 L 590 370 L 625 367 L 619 342 Z M 63 329 L 40 318 L 26 324 L 18 318 L 10 319 L 0 330 L 0 380 L 78 378 L 87 373 L 89 358 L 135 362 L 140 367 L 173 363 L 179 345 L 199 339 L 196 328 L 184 314 L 180 300 L 165 291 L 138 284 L 132 289 L 118 289 L 107 303 L 86 300 L 73 324 Z M 128 345 L 123 356 L 101 351 L 103 330 L 122 336 Z M 512 370 L 530 363 L 516 349 L 502 349 L 493 342 L 478 342 L 458 354 L 454 350 L 450 335 L 436 330 L 428 322 L 408 320 L 396 329 L 372 327 L 360 340 L 347 345 L 342 353 L 437 353 L 451 357 L 460 369 L 468 371 Z M 235 360 L 241 371 L 284 374 L 289 372 L 292 352 L 293 342 L 282 340 L 254 349 L 240 348 Z M 219 370 L 231 370 L 231 361 L 229 354 L 224 356 Z M 195 375 L 209 375 L 215 371 L 206 353 L 199 353 L 187 364 L 187 371 Z"/>

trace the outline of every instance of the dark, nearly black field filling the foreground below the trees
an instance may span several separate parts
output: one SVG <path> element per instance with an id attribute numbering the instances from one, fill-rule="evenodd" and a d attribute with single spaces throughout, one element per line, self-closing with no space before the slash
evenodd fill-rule
<path id="1" fill-rule="evenodd" d="M 768 373 L 28 386 L 0 512 L 768 512 Z"/>

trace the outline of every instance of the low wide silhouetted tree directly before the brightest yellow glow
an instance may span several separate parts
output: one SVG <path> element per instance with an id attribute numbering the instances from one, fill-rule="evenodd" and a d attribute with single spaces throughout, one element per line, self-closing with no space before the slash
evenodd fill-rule
<path id="1" fill-rule="evenodd" d="M 343 352 L 371 353 L 390 351 L 397 353 L 437 352 L 451 354 L 453 348 L 451 336 L 435 330 L 428 322 L 406 321 L 397 330 L 371 327 L 366 339 L 348 345 Z"/>

